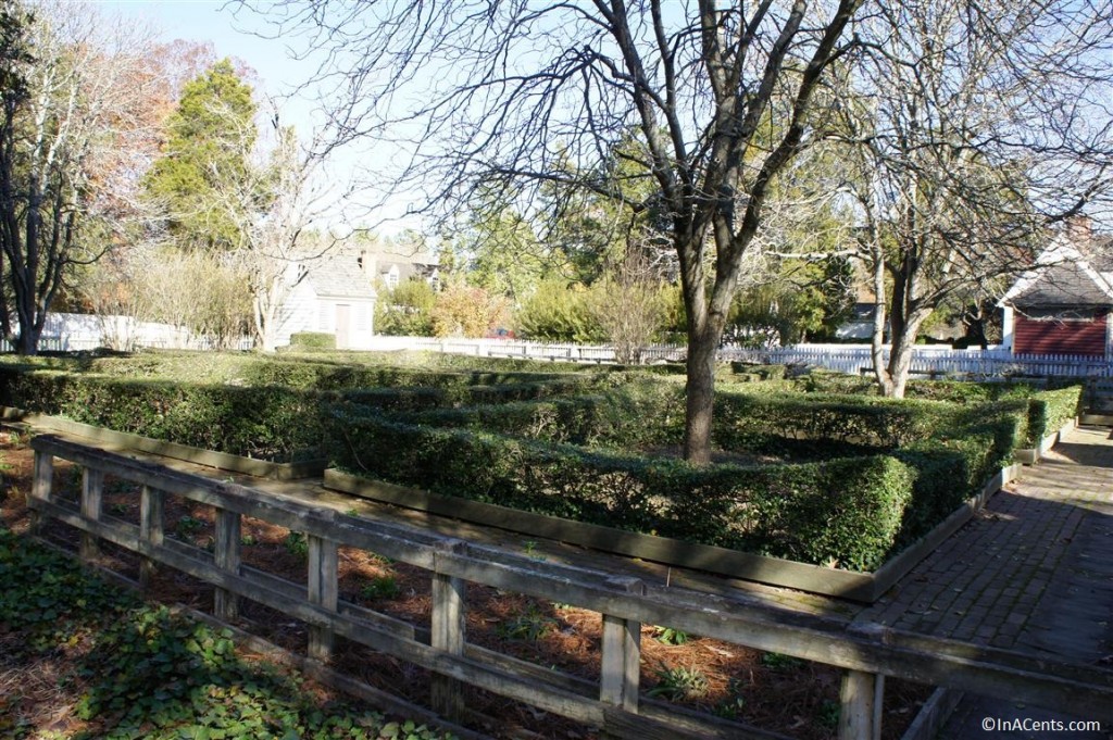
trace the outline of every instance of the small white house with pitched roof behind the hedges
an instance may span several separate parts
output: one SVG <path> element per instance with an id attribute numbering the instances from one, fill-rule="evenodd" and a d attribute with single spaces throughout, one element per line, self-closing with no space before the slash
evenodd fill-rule
<path id="1" fill-rule="evenodd" d="M 375 289 L 359 258 L 334 254 L 290 265 L 295 283 L 283 306 L 276 345 L 292 334 L 336 335 L 337 349 L 370 349 L 374 334 Z"/>

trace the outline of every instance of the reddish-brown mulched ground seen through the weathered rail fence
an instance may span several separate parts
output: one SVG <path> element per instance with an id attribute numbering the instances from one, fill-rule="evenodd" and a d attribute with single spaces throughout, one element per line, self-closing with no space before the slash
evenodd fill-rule
<path id="1" fill-rule="evenodd" d="M 0 435 L 0 453 L 3 463 L 0 515 L 6 526 L 20 532 L 27 526 L 23 500 L 30 490 L 31 452 L 19 437 Z M 80 471 L 58 462 L 56 495 L 77 501 L 79 490 Z M 126 482 L 106 480 L 105 515 L 137 524 L 138 491 Z M 174 496 L 167 499 L 167 536 L 210 547 L 213 522 L 210 507 Z M 76 550 L 78 537 L 68 527 L 51 523 L 47 536 Z M 306 543 L 297 533 L 245 519 L 242 542 L 245 563 L 304 583 Z M 102 565 L 127 578 L 138 578 L 139 561 L 135 555 L 111 546 L 102 547 Z M 341 550 L 339 563 L 343 600 L 429 628 L 427 571 L 348 547 Z M 200 611 L 209 611 L 213 603 L 211 586 L 169 569 L 159 571 L 149 595 Z M 303 623 L 246 601 L 240 611 L 239 626 L 284 648 L 305 650 L 307 637 Z M 804 740 L 835 737 L 840 681 L 837 669 L 698 635 L 677 634 L 667 626 L 642 628 L 643 692 Z M 598 682 L 600 634 L 601 618 L 594 612 L 474 584 L 469 588 L 467 638 L 473 644 Z M 339 670 L 415 703 L 427 704 L 427 671 L 343 640 L 338 640 L 336 654 L 335 667 Z M 47 687 L 51 680 L 49 667 L 41 669 L 43 672 L 37 675 L 0 679 Z M 925 687 L 889 681 L 884 737 L 899 738 L 929 693 Z M 45 727 L 57 723 L 52 718 L 65 716 L 65 702 L 72 700 L 55 692 L 57 701 L 52 702 L 50 695 L 45 689 L 40 708 Z M 482 691 L 469 697 L 467 707 L 474 712 L 467 724 L 495 737 L 570 740 L 598 737 L 591 728 Z"/>

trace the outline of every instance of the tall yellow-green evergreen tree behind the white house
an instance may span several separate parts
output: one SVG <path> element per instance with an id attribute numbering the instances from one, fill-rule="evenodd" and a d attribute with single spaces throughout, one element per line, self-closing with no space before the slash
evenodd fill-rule
<path id="1" fill-rule="evenodd" d="M 167 120 L 164 155 L 147 175 L 147 193 L 162 205 L 168 231 L 184 249 L 233 250 L 242 246 L 237 209 L 228 194 L 250 178 L 256 105 L 252 87 L 223 59 L 185 86 Z M 262 197 L 262 194 L 260 194 Z"/>

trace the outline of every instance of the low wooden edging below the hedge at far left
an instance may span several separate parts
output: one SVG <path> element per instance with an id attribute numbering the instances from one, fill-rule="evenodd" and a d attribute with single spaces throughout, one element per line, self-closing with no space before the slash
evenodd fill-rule
<path id="1" fill-rule="evenodd" d="M 11 406 L 0 406 L 0 418 L 7 422 L 23 422 L 35 427 L 86 437 L 101 444 L 126 447 L 137 452 L 169 457 L 170 460 L 180 460 L 187 463 L 205 465 L 206 467 L 216 467 L 230 473 L 243 473 L 244 475 L 265 477 L 274 481 L 318 477 L 325 470 L 325 461 L 323 460 L 306 461 L 304 463 L 272 463 L 266 460 L 255 460 L 253 457 L 229 455 L 225 452 L 190 447 L 128 432 L 114 432 L 102 426 L 82 424 L 81 422 L 73 422 L 61 416 L 35 414 Z"/>

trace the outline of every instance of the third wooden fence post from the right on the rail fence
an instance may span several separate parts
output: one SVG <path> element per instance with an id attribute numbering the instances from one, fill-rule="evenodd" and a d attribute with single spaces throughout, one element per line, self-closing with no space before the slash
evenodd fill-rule
<path id="1" fill-rule="evenodd" d="M 441 553 L 461 554 L 467 551 L 467 543 L 449 540 L 437 543 L 439 552 L 433 553 L 433 615 L 431 621 L 433 648 L 452 655 L 464 654 L 465 612 L 464 596 L 467 583 L 463 579 L 440 573 L 437 561 Z M 449 719 L 459 719 L 464 710 L 463 684 L 447 675 L 434 675 L 431 685 L 433 711 Z"/>

